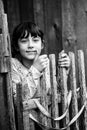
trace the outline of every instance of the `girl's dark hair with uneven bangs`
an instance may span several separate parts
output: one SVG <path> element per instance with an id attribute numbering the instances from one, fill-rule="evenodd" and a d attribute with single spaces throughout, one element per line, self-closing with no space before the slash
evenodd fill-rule
<path id="1" fill-rule="evenodd" d="M 27 34 L 26 34 L 27 32 Z M 27 38 L 31 34 L 31 36 L 34 37 L 41 37 L 41 40 L 43 41 L 43 32 L 42 30 L 33 22 L 23 22 L 17 25 L 13 31 L 12 34 L 12 41 L 11 41 L 11 50 L 12 50 L 12 56 L 15 57 L 15 55 L 19 55 L 18 52 L 18 40 Z"/>

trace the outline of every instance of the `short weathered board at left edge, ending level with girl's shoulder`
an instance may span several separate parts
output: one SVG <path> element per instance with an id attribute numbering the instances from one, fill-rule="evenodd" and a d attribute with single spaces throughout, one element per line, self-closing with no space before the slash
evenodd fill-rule
<path id="1" fill-rule="evenodd" d="M 4 22 L 5 21 L 5 22 Z M 0 47 L 0 71 L 1 72 L 8 72 L 8 60 L 9 58 L 9 51 L 8 43 L 7 43 L 7 16 L 6 14 L 0 14 L 0 41 L 1 41 L 1 47 Z M 10 49 L 10 48 L 9 48 Z"/>

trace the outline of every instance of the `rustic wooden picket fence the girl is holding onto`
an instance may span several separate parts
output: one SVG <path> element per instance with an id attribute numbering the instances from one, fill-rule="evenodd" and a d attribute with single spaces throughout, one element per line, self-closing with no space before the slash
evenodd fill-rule
<path id="1" fill-rule="evenodd" d="M 22 87 L 17 85 L 18 130 L 36 130 L 35 124 L 43 130 L 87 130 L 84 53 L 78 50 L 77 58 L 73 52 L 69 52 L 69 56 L 68 75 L 65 68 L 56 69 L 55 55 L 49 55 L 49 66 L 41 77 L 38 98 L 22 102 Z"/>

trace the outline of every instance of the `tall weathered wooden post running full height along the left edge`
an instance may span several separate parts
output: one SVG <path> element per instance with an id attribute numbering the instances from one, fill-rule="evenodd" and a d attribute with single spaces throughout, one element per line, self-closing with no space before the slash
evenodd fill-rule
<path id="1" fill-rule="evenodd" d="M 16 130 L 11 82 L 11 49 L 7 15 L 0 0 L 0 124 L 1 129 Z M 3 102 L 3 103 L 2 103 Z"/>

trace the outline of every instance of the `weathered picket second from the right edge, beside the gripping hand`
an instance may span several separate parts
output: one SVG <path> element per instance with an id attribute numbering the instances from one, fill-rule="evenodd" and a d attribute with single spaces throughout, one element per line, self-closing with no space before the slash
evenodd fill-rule
<path id="1" fill-rule="evenodd" d="M 75 54 L 73 52 L 69 52 L 69 56 L 71 59 L 71 72 L 70 72 L 70 89 L 72 90 L 72 115 L 73 118 L 78 113 L 78 102 L 77 102 L 77 84 L 76 84 L 76 68 L 75 68 Z M 79 130 L 78 121 L 76 121 L 73 125 L 74 130 Z"/>

